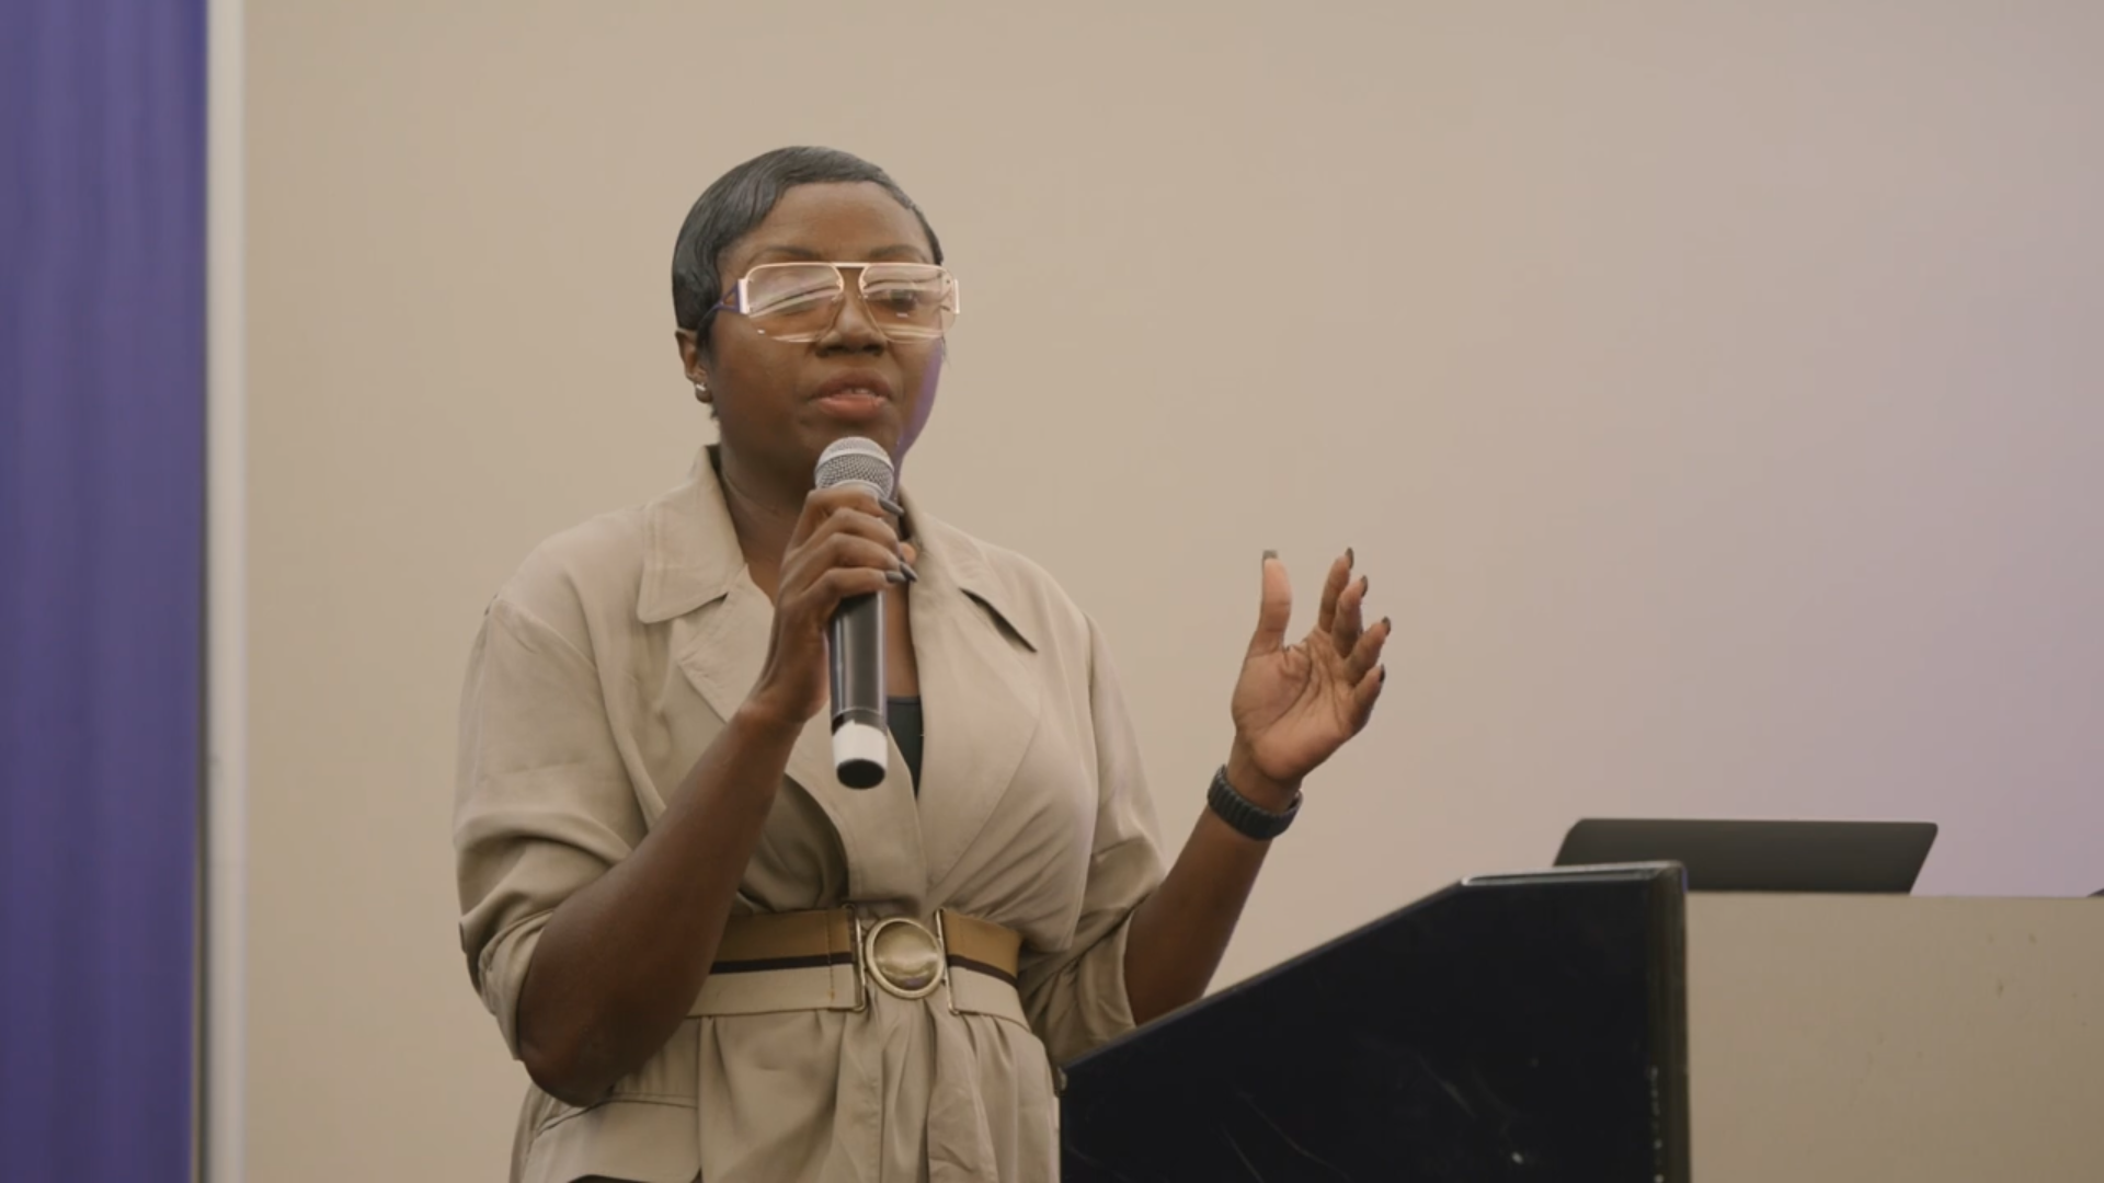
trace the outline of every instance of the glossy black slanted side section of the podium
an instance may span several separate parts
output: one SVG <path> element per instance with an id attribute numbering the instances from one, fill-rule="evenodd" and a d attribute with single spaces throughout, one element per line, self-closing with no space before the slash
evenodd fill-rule
<path id="1" fill-rule="evenodd" d="M 1466 880 L 1067 1065 L 1065 1179 L 1685 1183 L 1675 865 Z"/>

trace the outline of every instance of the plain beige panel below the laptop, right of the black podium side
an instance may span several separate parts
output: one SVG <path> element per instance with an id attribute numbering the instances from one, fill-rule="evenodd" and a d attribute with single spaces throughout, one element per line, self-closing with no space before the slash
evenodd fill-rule
<path id="1" fill-rule="evenodd" d="M 2104 899 L 1687 899 L 1702 1183 L 2104 1181 Z"/>

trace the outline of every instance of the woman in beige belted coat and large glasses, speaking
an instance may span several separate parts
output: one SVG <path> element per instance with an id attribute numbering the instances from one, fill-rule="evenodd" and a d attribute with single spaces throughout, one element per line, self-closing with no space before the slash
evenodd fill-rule
<path id="1" fill-rule="evenodd" d="M 463 695 L 461 939 L 537 1086 L 513 1179 L 1056 1179 L 1052 1065 L 1203 994 L 1389 625 L 1347 554 L 1288 646 L 1265 556 L 1235 741 L 1164 874 L 1094 623 L 907 497 L 812 488 L 833 440 L 896 463 L 928 423 L 957 286 L 919 208 L 770 152 L 694 202 L 673 305 L 720 444 L 543 543 Z M 856 791 L 825 623 L 863 594 L 896 743 Z"/>

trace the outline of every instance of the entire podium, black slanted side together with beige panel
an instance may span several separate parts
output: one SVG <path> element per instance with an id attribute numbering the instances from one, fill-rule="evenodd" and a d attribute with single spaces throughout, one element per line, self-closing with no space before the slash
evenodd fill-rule
<path id="1" fill-rule="evenodd" d="M 1466 880 L 1067 1065 L 1067 1179 L 2104 1183 L 2104 899 Z"/>

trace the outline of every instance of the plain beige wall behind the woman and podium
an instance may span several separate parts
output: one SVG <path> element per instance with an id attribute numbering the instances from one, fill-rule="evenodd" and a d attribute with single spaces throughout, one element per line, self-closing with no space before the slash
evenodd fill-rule
<path id="1" fill-rule="evenodd" d="M 499 1175 L 467 642 L 707 438 L 671 240 L 781 143 L 943 232 L 909 482 L 1100 617 L 1170 836 L 1258 552 L 1372 573 L 1387 703 L 1222 981 L 1580 815 L 2104 886 L 2100 51 L 2085 0 L 248 0 L 250 1179 Z"/>

